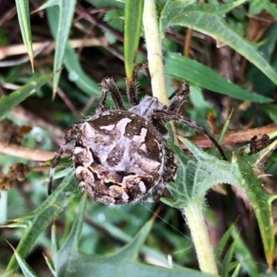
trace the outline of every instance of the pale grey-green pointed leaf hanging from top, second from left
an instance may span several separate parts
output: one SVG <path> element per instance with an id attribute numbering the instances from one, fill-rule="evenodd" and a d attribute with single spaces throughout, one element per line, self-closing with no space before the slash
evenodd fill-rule
<path id="1" fill-rule="evenodd" d="M 66 51 L 66 44 L 69 39 L 69 31 L 75 12 L 76 0 L 60 0 L 59 1 L 59 15 L 57 29 L 52 32 L 55 38 L 55 57 L 54 57 L 54 71 L 62 67 L 64 62 L 64 54 Z M 55 8 L 57 8 L 55 6 Z M 49 10 L 52 8 L 48 8 Z M 53 30 L 52 30 L 53 31 Z M 53 80 L 53 91 L 55 92 L 60 80 L 60 73 L 55 75 Z"/>

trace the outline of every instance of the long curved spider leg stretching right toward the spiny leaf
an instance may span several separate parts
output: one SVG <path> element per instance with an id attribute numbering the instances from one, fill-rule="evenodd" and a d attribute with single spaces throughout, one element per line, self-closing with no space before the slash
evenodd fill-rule
<path id="1" fill-rule="evenodd" d="M 215 147 L 220 151 L 220 154 L 222 155 L 223 159 L 226 160 L 226 156 L 221 148 L 221 146 L 217 143 L 217 141 L 213 138 L 213 136 L 200 124 L 197 122 L 190 120 L 184 116 L 181 116 L 179 114 L 175 114 L 172 111 L 166 111 L 166 110 L 156 110 L 153 113 L 153 117 L 162 118 L 163 120 L 166 120 L 166 122 L 170 120 L 176 120 L 179 123 L 182 123 L 184 125 L 187 125 L 188 127 L 191 127 L 195 129 L 197 133 L 204 134 L 208 139 L 210 139 Z"/>

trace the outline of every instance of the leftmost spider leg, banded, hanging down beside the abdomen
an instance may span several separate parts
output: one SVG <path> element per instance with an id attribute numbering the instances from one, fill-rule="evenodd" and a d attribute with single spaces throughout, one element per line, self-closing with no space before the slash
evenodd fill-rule
<path id="1" fill-rule="evenodd" d="M 64 151 L 66 150 L 66 146 L 72 141 L 76 129 L 78 129 L 78 124 L 73 124 L 72 127 L 66 132 L 66 134 L 64 135 L 64 143 L 61 145 L 60 149 L 57 150 L 57 153 L 55 154 L 55 157 L 51 162 L 49 181 L 48 181 L 48 195 L 51 195 L 51 192 L 52 192 L 55 168 L 60 163 L 60 159 L 62 158 L 62 154 L 64 154 Z"/>

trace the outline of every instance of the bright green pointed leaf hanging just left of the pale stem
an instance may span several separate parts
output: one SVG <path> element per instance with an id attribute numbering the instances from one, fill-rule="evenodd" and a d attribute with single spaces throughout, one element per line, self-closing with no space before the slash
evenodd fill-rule
<path id="1" fill-rule="evenodd" d="M 141 37 L 143 2 L 143 0 L 126 0 L 125 3 L 124 58 L 128 87 L 132 79 Z"/>

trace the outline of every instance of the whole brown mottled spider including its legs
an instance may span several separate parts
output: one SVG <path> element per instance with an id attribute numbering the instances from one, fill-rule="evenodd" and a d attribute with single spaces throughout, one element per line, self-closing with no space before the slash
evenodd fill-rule
<path id="1" fill-rule="evenodd" d="M 177 120 L 207 136 L 224 156 L 222 148 L 204 127 L 177 114 L 188 96 L 188 84 L 177 90 L 175 100 L 164 107 L 157 98 L 146 96 L 139 103 L 136 67 L 129 89 L 132 107 L 125 110 L 120 93 L 111 78 L 101 82 L 102 91 L 96 113 L 75 123 L 66 132 L 65 143 L 51 165 L 48 192 L 55 167 L 66 145 L 73 141 L 73 166 L 80 187 L 93 199 L 105 204 L 125 204 L 138 200 L 155 201 L 173 180 L 177 166 L 172 151 L 163 141 L 163 122 Z M 111 93 L 116 110 L 105 107 L 106 93 Z M 151 200 L 148 193 L 152 193 Z"/>

